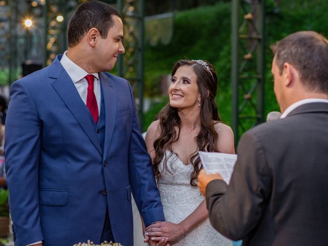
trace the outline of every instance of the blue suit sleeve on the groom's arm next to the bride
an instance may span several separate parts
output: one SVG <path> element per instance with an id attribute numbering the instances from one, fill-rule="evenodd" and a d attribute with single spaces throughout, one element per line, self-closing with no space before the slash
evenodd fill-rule
<path id="1" fill-rule="evenodd" d="M 165 221 L 165 218 L 151 159 L 140 132 L 132 90 L 130 86 L 129 88 L 133 105 L 133 129 L 129 150 L 130 182 L 133 197 L 147 227 L 153 222 Z"/>

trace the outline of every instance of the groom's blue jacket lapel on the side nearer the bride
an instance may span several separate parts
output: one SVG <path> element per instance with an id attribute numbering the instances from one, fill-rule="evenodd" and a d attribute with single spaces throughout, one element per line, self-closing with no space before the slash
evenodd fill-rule
<path id="1" fill-rule="evenodd" d="M 104 105 L 105 105 L 105 144 L 104 158 L 108 153 L 109 145 L 113 136 L 115 119 L 116 119 L 116 93 L 111 85 L 108 76 L 104 73 L 99 73 L 101 90 L 103 90 Z"/>

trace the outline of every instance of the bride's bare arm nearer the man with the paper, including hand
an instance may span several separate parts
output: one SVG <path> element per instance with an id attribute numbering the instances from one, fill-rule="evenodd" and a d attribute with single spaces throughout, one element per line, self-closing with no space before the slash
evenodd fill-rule
<path id="1" fill-rule="evenodd" d="M 219 135 L 217 148 L 220 152 L 234 154 L 234 134 L 231 128 L 222 123 L 215 124 L 215 129 Z M 146 235 L 154 240 L 157 237 L 168 237 L 169 241 L 175 241 L 179 237 L 185 235 L 188 231 L 192 230 L 202 221 L 209 217 L 206 208 L 206 200 L 203 200 L 199 206 L 180 223 L 175 224 L 172 222 L 159 222 L 152 224 L 147 228 Z"/>

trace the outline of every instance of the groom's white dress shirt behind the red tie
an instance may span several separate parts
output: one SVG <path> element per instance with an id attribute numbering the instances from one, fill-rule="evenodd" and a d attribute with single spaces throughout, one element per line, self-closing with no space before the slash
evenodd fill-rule
<path id="1" fill-rule="evenodd" d="M 88 81 L 85 76 L 88 75 L 86 71 L 81 69 L 72 60 L 70 60 L 66 52 L 64 52 L 63 57 L 61 57 L 60 64 L 64 67 L 70 78 L 72 79 L 74 86 L 81 99 L 84 101 L 85 105 L 87 105 L 87 93 L 88 93 Z M 98 114 L 100 114 L 100 99 L 101 99 L 101 91 L 100 91 L 100 80 L 98 73 L 92 73 L 94 75 L 94 94 L 96 96 L 97 105 L 98 105 Z M 42 241 L 34 242 L 28 244 L 26 246 L 34 245 L 42 243 Z"/>

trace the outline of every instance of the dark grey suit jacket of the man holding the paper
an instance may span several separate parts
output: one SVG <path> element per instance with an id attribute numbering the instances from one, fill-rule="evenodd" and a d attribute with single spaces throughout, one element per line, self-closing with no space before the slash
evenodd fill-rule
<path id="1" fill-rule="evenodd" d="M 327 245 L 328 104 L 245 133 L 228 186 L 209 183 L 212 225 L 243 245 Z"/>

